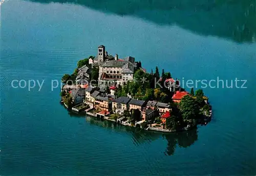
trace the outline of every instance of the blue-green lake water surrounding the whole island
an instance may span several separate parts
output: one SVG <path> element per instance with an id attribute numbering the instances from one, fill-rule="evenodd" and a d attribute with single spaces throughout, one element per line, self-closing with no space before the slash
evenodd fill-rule
<path id="1" fill-rule="evenodd" d="M 6 0 L 0 175 L 256 174 L 255 19 L 255 1 Z M 187 133 L 148 133 L 69 114 L 51 80 L 72 73 L 99 45 L 134 56 L 149 72 L 158 65 L 181 80 L 238 78 L 247 88 L 203 89 L 214 116 Z M 11 86 L 22 79 L 45 82 L 40 91 Z"/>

